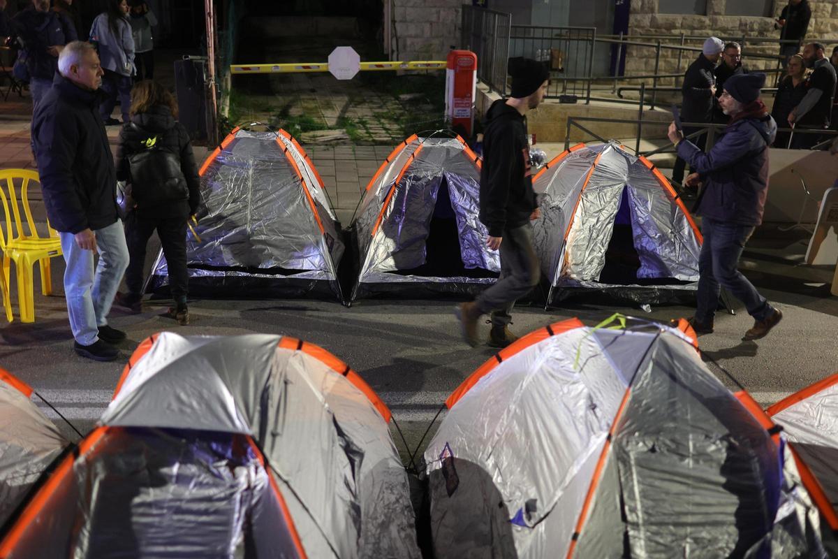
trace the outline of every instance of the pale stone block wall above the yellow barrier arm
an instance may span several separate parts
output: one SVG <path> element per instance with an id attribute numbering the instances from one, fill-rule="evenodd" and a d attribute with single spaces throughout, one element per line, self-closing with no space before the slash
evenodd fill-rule
<path id="1" fill-rule="evenodd" d="M 463 0 L 392 0 L 396 60 L 445 60 L 460 42 Z"/>

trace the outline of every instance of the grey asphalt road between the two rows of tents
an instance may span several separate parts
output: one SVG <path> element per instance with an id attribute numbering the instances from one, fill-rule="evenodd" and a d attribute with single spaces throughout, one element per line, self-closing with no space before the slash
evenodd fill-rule
<path id="1" fill-rule="evenodd" d="M 838 298 L 830 297 L 824 284 L 831 270 L 795 266 L 799 246 L 789 243 L 793 240 L 752 241 L 742 262 L 748 277 L 783 310 L 785 318 L 777 329 L 768 338 L 742 342 L 742 334 L 753 322 L 739 309 L 736 315 L 719 313 L 716 332 L 700 339 L 704 355 L 763 404 L 838 370 L 834 335 Z M 94 425 L 111 399 L 127 356 L 150 334 L 162 330 L 184 335 L 287 334 L 328 349 L 379 393 L 405 434 L 406 444 L 394 429 L 396 445 L 407 463 L 406 448 L 414 451 L 420 446 L 422 433 L 442 401 L 494 354 L 485 346 L 471 349 L 463 344 L 452 313 L 453 301 L 365 299 L 346 308 L 337 302 L 309 299 L 199 300 L 190 303 L 192 322 L 184 327 L 161 316 L 168 306 L 165 301 L 152 301 L 142 314 L 111 313 L 111 324 L 128 334 L 121 345 L 125 358 L 97 363 L 72 350 L 60 285 L 63 262 L 54 259 L 53 266 L 55 295 L 36 295 L 37 322 L 23 324 L 16 319 L 0 328 L 0 366 L 34 386 L 81 432 Z M 690 316 L 692 308 L 661 306 L 650 311 L 596 301 L 562 303 L 550 312 L 520 307 L 512 329 L 525 334 L 571 317 L 595 324 L 613 313 L 668 320 Z M 488 334 L 489 326 L 484 329 Z M 728 386 L 735 386 L 714 363 L 708 366 Z M 53 411 L 42 407 L 64 432 L 71 433 Z"/>

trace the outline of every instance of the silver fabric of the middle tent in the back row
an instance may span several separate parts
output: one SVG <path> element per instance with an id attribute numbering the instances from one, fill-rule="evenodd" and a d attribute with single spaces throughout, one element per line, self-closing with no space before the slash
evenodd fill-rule
<path id="1" fill-rule="evenodd" d="M 354 220 L 360 254 L 359 285 L 394 282 L 494 283 L 494 277 L 427 277 L 391 273 L 410 270 L 425 263 L 425 243 L 443 178 L 457 221 L 463 267 L 500 271 L 499 254 L 485 246 L 488 232 L 478 220 L 480 171 L 466 153 L 463 143 L 457 138 L 414 137 L 382 167 L 361 199 Z M 399 184 L 395 184 L 403 169 L 404 175 Z M 387 206 L 382 214 L 385 203 Z M 380 216 L 380 225 L 376 229 Z"/>

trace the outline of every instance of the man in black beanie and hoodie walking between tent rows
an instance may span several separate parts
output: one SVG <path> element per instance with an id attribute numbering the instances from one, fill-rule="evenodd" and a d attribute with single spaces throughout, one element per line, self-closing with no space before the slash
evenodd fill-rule
<path id="1" fill-rule="evenodd" d="M 489 230 L 486 244 L 500 251 L 500 277 L 473 303 L 455 308 L 463 339 L 472 347 L 478 344 L 478 318 L 486 313 L 491 313 L 490 346 L 506 347 L 517 339 L 508 327 L 510 312 L 541 277 L 532 246 L 530 220 L 540 214 L 532 189 L 525 115 L 541 103 L 549 76 L 544 65 L 524 58 L 510 59 L 509 73 L 510 98 L 494 101 L 486 115 L 480 171 L 480 221 Z"/>

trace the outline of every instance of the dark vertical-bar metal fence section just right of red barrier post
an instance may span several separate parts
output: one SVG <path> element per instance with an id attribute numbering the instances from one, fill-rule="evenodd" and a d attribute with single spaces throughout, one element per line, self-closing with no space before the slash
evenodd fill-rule
<path id="1" fill-rule="evenodd" d="M 462 23 L 460 44 L 477 54 L 478 80 L 501 96 L 506 96 L 506 61 L 510 58 L 512 15 L 463 6 Z"/>

